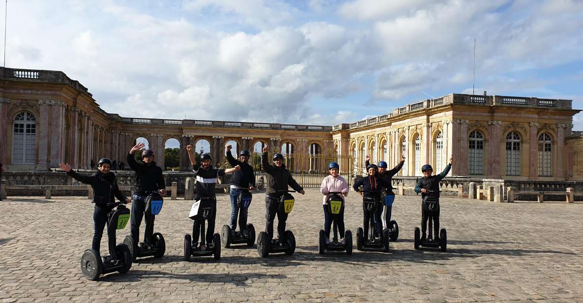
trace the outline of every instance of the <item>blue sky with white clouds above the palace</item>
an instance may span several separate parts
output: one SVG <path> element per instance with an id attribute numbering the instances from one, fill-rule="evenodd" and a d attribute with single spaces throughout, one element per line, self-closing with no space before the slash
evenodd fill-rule
<path id="1" fill-rule="evenodd" d="M 355 122 L 472 93 L 474 40 L 476 94 L 583 109 L 581 0 L 9 0 L 7 15 L 6 66 L 63 71 L 122 117 Z"/>

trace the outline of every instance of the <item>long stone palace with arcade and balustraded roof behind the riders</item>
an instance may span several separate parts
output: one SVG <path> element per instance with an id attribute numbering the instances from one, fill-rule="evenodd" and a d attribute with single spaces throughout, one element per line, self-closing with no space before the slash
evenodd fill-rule
<path id="1" fill-rule="evenodd" d="M 351 124 L 293 125 L 120 117 L 63 72 L 0 68 L 0 76 L 0 162 L 11 171 L 124 161 L 137 138 L 147 139 L 163 163 L 164 145 L 174 138 L 182 170 L 189 166 L 182 147 L 206 140 L 219 161 L 234 141 L 241 149 L 301 155 L 306 160 L 298 168 L 305 171 L 322 169 L 312 158 L 337 159 L 346 172 L 366 155 L 389 167 L 404 155 L 400 174 L 417 176 L 427 163 L 441 171 L 452 156 L 455 177 L 583 180 L 583 132 L 572 130 L 580 110 L 572 100 L 449 94 Z"/>

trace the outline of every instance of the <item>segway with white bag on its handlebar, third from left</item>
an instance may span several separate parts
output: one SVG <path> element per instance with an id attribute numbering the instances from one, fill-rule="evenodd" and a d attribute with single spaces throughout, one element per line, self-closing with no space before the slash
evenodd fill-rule
<path id="1" fill-rule="evenodd" d="M 220 235 L 215 232 L 212 245 L 206 245 L 205 222 L 213 216 L 213 203 L 215 198 L 201 198 L 194 202 L 191 207 L 189 218 L 200 220 L 201 222 L 201 246 L 192 245 L 190 234 L 184 235 L 184 260 L 189 261 L 191 256 L 213 256 L 215 260 L 220 259 Z"/>

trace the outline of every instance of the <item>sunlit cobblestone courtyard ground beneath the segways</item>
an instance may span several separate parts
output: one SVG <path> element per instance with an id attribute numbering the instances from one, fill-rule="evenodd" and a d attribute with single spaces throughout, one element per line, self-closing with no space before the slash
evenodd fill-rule
<path id="1" fill-rule="evenodd" d="M 258 232 L 265 224 L 264 196 L 257 193 L 251 204 L 249 221 Z M 87 281 L 79 259 L 93 234 L 89 200 L 10 198 L 0 202 L 0 302 L 583 302 L 580 203 L 442 198 L 449 241 L 448 251 L 439 252 L 413 250 L 420 197 L 397 196 L 400 239 L 391 242 L 390 253 L 359 252 L 362 211 L 352 192 L 346 227 L 354 233 L 355 252 L 347 256 L 318 255 L 321 199 L 315 189 L 296 195 L 287 221 L 297 239 L 293 255 L 261 258 L 255 248 L 223 248 L 220 262 L 182 260 L 191 202 L 167 200 L 155 228 L 166 238 L 166 255 L 138 259 L 126 274 Z M 221 195 L 216 231 L 229 215 L 229 196 Z M 128 233 L 129 224 L 118 242 Z"/>

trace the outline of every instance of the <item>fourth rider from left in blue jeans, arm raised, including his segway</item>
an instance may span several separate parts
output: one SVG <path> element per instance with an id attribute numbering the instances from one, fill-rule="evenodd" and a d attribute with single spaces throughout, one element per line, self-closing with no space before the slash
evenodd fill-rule
<path id="1" fill-rule="evenodd" d="M 224 248 L 231 244 L 255 244 L 255 227 L 253 224 L 247 224 L 247 212 L 251 205 L 252 195 L 250 191 L 255 190 L 255 172 L 253 167 L 247 162 L 251 156 L 248 150 L 241 150 L 239 160 L 231 154 L 231 145 L 227 145 L 227 161 L 231 166 L 239 165 L 241 170 L 233 173 L 230 185 L 231 198 L 231 222 L 224 225 L 221 230 L 221 242 Z M 237 228 L 237 216 L 239 217 L 239 231 Z"/>

